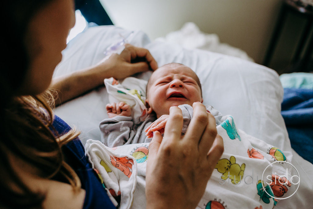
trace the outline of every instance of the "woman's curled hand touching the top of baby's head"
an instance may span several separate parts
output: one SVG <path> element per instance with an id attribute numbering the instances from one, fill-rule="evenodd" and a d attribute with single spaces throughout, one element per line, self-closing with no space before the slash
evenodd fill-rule
<path id="1" fill-rule="evenodd" d="M 98 65 L 103 66 L 106 73 L 109 73 L 109 77 L 115 79 L 123 79 L 138 72 L 157 69 L 156 60 L 147 49 L 131 44 L 125 44 L 125 49 L 120 55 L 112 54 L 109 59 L 100 61 Z"/>

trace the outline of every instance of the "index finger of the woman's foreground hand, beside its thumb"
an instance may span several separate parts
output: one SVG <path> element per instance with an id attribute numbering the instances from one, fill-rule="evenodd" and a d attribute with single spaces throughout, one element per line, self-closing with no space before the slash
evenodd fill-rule
<path id="1" fill-rule="evenodd" d="M 165 125 L 164 137 L 169 140 L 180 140 L 182 136 L 182 110 L 179 107 L 170 107 L 170 116 Z"/>

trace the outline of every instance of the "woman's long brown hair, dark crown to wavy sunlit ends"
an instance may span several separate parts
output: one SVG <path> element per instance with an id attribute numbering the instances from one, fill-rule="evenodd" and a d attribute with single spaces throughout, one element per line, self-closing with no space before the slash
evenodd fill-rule
<path id="1" fill-rule="evenodd" d="M 52 126 L 54 97 L 47 90 L 40 95 L 18 95 L 28 71 L 29 57 L 24 36 L 33 15 L 53 0 L 5 1 L 0 11 L 3 32 L 3 64 L 0 71 L 0 207 L 41 207 L 45 194 L 31 191 L 18 172 L 19 159 L 29 165 L 26 172 L 51 179 L 55 176 L 79 189 L 80 179 L 66 164 L 62 145 L 76 138 L 75 129 L 59 135 Z M 47 23 L 48 24 L 48 23 Z M 23 166 L 25 168 L 25 166 Z"/>

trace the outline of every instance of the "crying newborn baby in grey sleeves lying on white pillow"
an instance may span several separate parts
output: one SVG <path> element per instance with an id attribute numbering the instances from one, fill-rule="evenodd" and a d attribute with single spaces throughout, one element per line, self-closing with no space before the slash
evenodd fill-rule
<path id="1" fill-rule="evenodd" d="M 182 109 L 184 117 L 182 134 L 184 134 L 193 115 L 192 103 L 203 102 L 198 76 L 189 67 L 178 63 L 163 65 L 154 71 L 148 81 L 146 92 L 145 102 L 149 116 L 139 125 L 132 122 L 131 107 L 125 102 L 106 105 L 109 118 L 100 123 L 101 139 L 105 145 L 116 147 L 150 142 L 151 139 L 147 138 L 152 138 L 154 131 L 164 132 L 172 106 Z M 217 121 L 222 117 L 211 106 L 207 109 Z"/>

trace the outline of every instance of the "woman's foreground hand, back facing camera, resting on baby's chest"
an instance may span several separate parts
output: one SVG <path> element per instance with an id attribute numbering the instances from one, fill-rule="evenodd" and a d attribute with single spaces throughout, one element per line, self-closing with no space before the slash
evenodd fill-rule
<path id="1" fill-rule="evenodd" d="M 170 108 L 164 137 L 155 132 L 146 170 L 147 208 L 195 208 L 223 153 L 215 119 L 203 104 L 192 105 L 193 118 L 181 136 L 181 109 Z"/>

